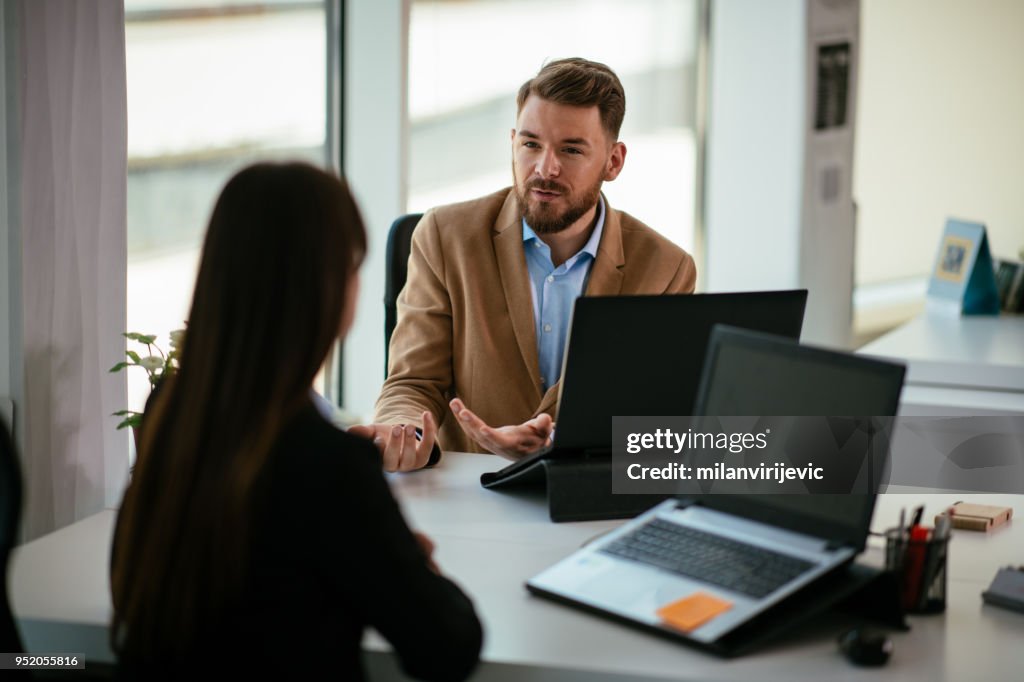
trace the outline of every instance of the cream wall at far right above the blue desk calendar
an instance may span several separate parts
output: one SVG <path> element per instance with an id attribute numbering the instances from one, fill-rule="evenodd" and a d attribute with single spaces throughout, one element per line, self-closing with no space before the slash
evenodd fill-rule
<path id="1" fill-rule="evenodd" d="M 948 216 L 986 223 L 994 254 L 1016 255 L 1024 2 L 863 0 L 861 36 L 857 284 L 926 276 Z"/>

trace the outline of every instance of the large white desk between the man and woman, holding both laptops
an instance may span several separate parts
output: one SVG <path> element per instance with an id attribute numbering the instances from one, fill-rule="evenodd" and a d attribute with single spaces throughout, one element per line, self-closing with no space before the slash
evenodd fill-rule
<path id="1" fill-rule="evenodd" d="M 484 622 L 483 663 L 474 679 L 761 681 L 880 676 L 879 671 L 857 669 L 842 658 L 835 629 L 805 629 L 763 652 L 723 662 L 530 596 L 522 587 L 526 579 L 615 522 L 552 524 L 540 500 L 482 489 L 479 474 L 501 464 L 488 456 L 449 454 L 434 470 L 391 477 L 411 524 L 436 541 L 439 565 L 473 597 Z M 1024 496 L 978 497 L 1024 513 Z M 929 517 L 956 498 L 882 496 L 873 527 L 893 523 L 901 506 L 927 502 Z M 113 510 L 101 512 L 15 552 L 11 597 L 31 651 L 75 651 L 88 659 L 111 659 L 106 568 L 114 517 Z M 879 561 L 881 551 L 870 548 L 864 558 Z M 996 568 L 1022 562 L 1020 519 L 988 536 L 955 531 L 946 614 L 911 616 L 910 633 L 893 634 L 896 650 L 882 675 L 929 681 L 1019 679 L 1024 666 L 1024 615 L 984 605 L 980 593 Z M 365 648 L 373 679 L 394 679 L 396 664 L 379 637 L 369 635 Z"/>

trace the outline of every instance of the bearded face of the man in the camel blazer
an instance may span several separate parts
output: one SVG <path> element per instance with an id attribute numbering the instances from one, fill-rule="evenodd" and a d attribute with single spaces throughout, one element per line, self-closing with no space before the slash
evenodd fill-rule
<path id="1" fill-rule="evenodd" d="M 597 205 L 604 180 L 622 170 L 626 147 L 612 142 L 597 106 L 530 95 L 512 131 L 516 200 L 538 235 L 560 232 Z"/>

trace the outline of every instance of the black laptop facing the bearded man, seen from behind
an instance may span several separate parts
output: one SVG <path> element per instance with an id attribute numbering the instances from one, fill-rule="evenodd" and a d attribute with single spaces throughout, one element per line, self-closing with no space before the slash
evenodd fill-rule
<path id="1" fill-rule="evenodd" d="M 806 305 L 806 289 L 577 299 L 554 442 L 480 482 L 532 480 L 549 458 L 610 456 L 611 418 L 618 415 L 691 414 L 715 325 L 799 339 Z"/>

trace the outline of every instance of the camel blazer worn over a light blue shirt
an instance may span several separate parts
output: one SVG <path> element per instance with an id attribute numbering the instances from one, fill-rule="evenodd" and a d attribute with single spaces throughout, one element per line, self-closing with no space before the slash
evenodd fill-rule
<path id="1" fill-rule="evenodd" d="M 586 296 L 693 292 L 689 254 L 607 200 L 605 209 Z M 453 417 L 447 402 L 456 396 L 492 426 L 543 412 L 557 417 L 558 384 L 541 389 L 522 218 L 511 188 L 423 216 L 389 354 L 374 421 L 421 426 L 429 410 L 442 450 L 483 452 Z"/>

